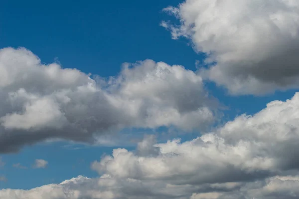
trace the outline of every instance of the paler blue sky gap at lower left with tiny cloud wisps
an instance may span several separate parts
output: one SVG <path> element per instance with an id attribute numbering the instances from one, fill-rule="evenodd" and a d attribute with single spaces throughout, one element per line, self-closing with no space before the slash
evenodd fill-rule
<path id="1" fill-rule="evenodd" d="M 2 155 L 6 165 L 2 169 L 7 182 L 0 189 L 32 189 L 51 183 L 61 183 L 66 179 L 84 175 L 98 176 L 90 169 L 90 163 L 99 160 L 103 153 L 111 154 L 114 147 L 66 148 L 68 143 L 37 144 L 23 148 L 19 153 Z M 130 147 L 129 147 L 130 148 Z M 35 159 L 48 161 L 45 169 L 33 169 Z M 27 169 L 13 168 L 12 164 L 21 163 Z"/>

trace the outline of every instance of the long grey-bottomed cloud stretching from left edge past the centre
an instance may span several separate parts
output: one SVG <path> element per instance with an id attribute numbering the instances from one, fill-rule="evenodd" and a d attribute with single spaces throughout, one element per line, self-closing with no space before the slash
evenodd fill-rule
<path id="1" fill-rule="evenodd" d="M 0 49 L 0 153 L 47 139 L 94 143 L 122 128 L 205 129 L 216 103 L 202 78 L 152 60 L 124 64 L 115 77 L 92 79 L 25 48 Z"/>

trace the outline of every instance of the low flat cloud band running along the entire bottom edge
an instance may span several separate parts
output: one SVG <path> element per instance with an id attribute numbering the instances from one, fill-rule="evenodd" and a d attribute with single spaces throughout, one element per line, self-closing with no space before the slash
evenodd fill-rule
<path id="1" fill-rule="evenodd" d="M 31 190 L 0 191 L 5 199 L 295 199 L 299 177 L 276 176 L 254 183 L 171 185 L 151 180 L 78 176 Z"/>

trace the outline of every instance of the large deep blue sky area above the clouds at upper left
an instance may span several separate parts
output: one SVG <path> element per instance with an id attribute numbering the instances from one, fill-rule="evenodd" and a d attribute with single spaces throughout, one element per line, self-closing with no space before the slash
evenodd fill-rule
<path id="1" fill-rule="evenodd" d="M 179 0 L 37 1 L 1 3 L 0 46 L 24 46 L 42 62 L 101 76 L 116 75 L 123 62 L 147 58 L 195 69 L 200 59 L 185 42 L 159 26 L 161 9 Z"/>

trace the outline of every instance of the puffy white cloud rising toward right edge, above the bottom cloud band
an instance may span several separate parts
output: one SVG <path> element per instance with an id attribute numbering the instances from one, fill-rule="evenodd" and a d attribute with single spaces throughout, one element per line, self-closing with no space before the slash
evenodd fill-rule
<path id="1" fill-rule="evenodd" d="M 120 178 L 177 184 L 250 181 L 298 170 L 299 93 L 273 101 L 254 116 L 241 115 L 192 141 L 139 144 L 138 153 L 115 149 L 93 169 Z M 151 156 L 149 156 L 151 153 Z M 183 163 L 183 164 L 178 164 Z"/>

